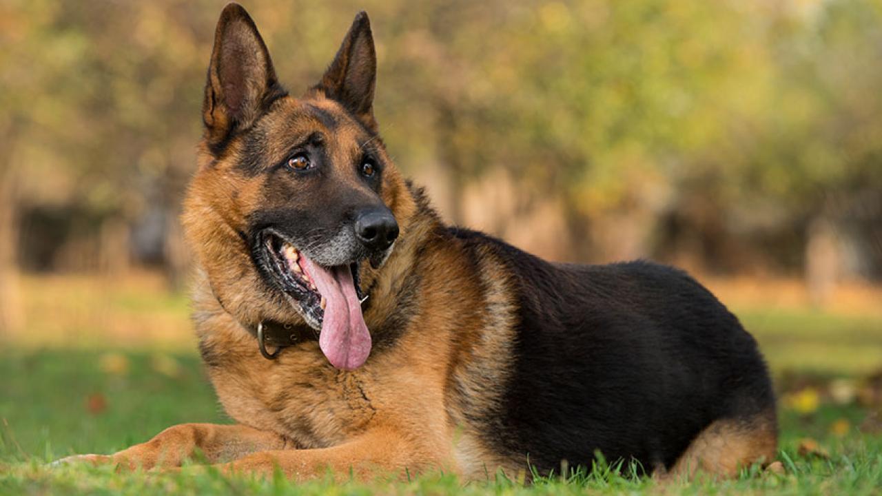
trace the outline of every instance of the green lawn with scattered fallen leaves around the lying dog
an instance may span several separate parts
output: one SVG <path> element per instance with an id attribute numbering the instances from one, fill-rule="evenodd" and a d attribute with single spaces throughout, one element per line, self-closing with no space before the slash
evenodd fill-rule
<path id="1" fill-rule="evenodd" d="M 41 289 L 41 297 L 51 291 Z M 186 328 L 183 296 L 151 299 L 148 294 L 138 301 L 137 293 L 120 289 L 108 295 L 116 299 L 101 300 L 101 321 L 143 327 L 140 319 L 159 314 L 163 321 L 174 321 L 175 329 Z M 108 317 L 105 311 L 116 313 Z M 74 327 L 92 325 L 91 311 L 77 312 L 68 319 Z M 41 339 L 34 335 L 40 327 L 32 327 L 34 334 L 12 334 L 16 339 L 0 343 L 0 494 L 882 492 L 882 377 L 876 376 L 882 366 L 882 316 L 771 306 L 737 308 L 736 313 L 758 336 L 774 370 L 781 396 L 782 474 L 754 468 L 736 480 L 660 484 L 598 464 L 587 474 L 540 479 L 534 485 L 523 485 L 517 477 L 464 484 L 444 474 L 367 485 L 330 479 L 296 485 L 280 477 L 228 478 L 191 469 L 177 475 L 115 473 L 108 467 L 50 469 L 45 463 L 58 457 L 113 452 L 168 425 L 229 420 L 191 351 L 189 336 L 152 341 L 131 331 L 123 339 L 98 332 L 98 338 L 81 340 L 80 334 L 73 339 L 51 328 L 45 331 L 51 335 Z"/>

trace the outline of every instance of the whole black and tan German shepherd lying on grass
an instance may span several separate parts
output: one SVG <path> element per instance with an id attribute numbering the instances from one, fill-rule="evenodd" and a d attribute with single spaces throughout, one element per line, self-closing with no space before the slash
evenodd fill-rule
<path id="1" fill-rule="evenodd" d="M 183 225 L 199 349 L 236 424 L 75 459 L 199 453 L 297 479 L 549 473 L 598 452 L 725 477 L 774 459 L 773 389 L 735 316 L 674 268 L 553 264 L 445 226 L 379 138 L 375 72 L 362 12 L 294 98 L 249 15 L 224 9 Z"/>

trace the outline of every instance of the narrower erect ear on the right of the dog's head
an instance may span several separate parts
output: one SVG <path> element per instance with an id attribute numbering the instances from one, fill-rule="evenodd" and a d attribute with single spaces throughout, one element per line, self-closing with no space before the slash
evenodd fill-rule
<path id="1" fill-rule="evenodd" d="M 377 86 L 377 52 L 370 33 L 370 19 L 361 11 L 343 39 L 337 56 L 316 86 L 325 96 L 339 101 L 371 131 L 374 120 L 374 87 Z"/>

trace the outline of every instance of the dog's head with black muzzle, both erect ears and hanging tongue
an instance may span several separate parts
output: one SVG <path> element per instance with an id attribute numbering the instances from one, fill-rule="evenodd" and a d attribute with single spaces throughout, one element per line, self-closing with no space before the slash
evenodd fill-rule
<path id="1" fill-rule="evenodd" d="M 215 296 L 246 325 L 318 331 L 339 368 L 370 353 L 362 290 L 406 235 L 413 199 L 373 116 L 376 54 L 355 17 L 325 75 L 300 98 L 280 86 L 248 13 L 221 13 L 208 68 L 188 241 Z"/>

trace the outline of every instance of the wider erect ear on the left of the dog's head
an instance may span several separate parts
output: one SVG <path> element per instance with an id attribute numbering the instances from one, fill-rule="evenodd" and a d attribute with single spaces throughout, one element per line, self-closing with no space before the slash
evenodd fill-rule
<path id="1" fill-rule="evenodd" d="M 218 146 L 248 129 L 285 94 L 257 26 L 239 4 L 228 4 L 214 32 L 202 117 L 209 143 Z"/>

